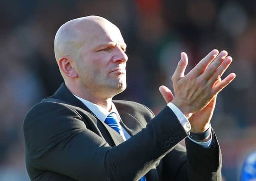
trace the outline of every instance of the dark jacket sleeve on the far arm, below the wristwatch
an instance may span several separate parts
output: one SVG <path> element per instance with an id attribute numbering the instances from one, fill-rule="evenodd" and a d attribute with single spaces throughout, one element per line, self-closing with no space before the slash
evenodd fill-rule
<path id="1" fill-rule="evenodd" d="M 222 158 L 219 143 L 212 131 L 213 143 L 203 148 L 186 138 L 186 148 L 176 145 L 163 159 L 163 180 L 221 181 Z M 180 162 L 175 162 L 179 158 Z"/>

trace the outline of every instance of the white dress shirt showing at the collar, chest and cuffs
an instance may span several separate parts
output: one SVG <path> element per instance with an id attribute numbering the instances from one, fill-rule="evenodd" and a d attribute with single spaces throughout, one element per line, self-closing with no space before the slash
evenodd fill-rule
<path id="1" fill-rule="evenodd" d="M 86 107 L 88 107 L 88 109 L 90 109 L 91 112 L 94 113 L 95 116 L 103 123 L 105 122 L 105 119 L 108 116 L 108 114 L 110 114 L 111 112 L 114 112 L 117 114 L 118 120 L 120 122 L 120 115 L 119 115 L 117 108 L 113 102 L 112 102 L 112 106 L 111 106 L 111 111 L 109 112 L 107 109 L 103 108 L 102 106 L 94 104 L 94 103 L 92 103 L 88 100 L 85 100 L 81 97 L 78 97 L 76 95 L 74 95 L 74 96 L 77 97 L 77 99 L 80 100 Z M 167 106 L 174 112 L 174 114 L 178 118 L 179 122 L 181 123 L 181 125 L 183 126 L 185 131 L 187 131 L 187 132 L 190 131 L 191 125 L 190 125 L 187 117 L 185 117 L 185 115 L 182 113 L 182 111 L 180 111 L 179 108 L 177 108 L 173 103 L 168 103 Z M 122 127 L 122 125 L 121 125 L 121 127 Z M 122 130 L 124 132 L 125 139 L 129 139 L 131 137 L 131 135 L 125 130 L 125 128 L 122 127 Z M 195 140 L 191 139 L 190 137 L 188 137 L 188 138 L 192 142 L 202 145 L 205 148 L 209 148 L 210 144 L 212 142 L 212 136 L 210 137 L 210 139 L 207 142 L 196 142 Z"/>

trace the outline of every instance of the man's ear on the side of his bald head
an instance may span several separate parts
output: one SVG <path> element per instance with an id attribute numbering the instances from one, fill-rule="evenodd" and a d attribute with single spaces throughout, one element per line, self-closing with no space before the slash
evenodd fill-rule
<path id="1" fill-rule="evenodd" d="M 60 70 L 69 78 L 77 78 L 78 74 L 71 64 L 71 60 L 67 57 L 60 58 Z"/>

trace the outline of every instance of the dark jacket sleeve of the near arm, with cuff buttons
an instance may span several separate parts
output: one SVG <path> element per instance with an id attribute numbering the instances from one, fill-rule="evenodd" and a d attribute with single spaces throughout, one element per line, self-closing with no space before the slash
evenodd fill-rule
<path id="1" fill-rule="evenodd" d="M 170 108 L 165 107 L 146 128 L 110 147 L 89 130 L 74 109 L 43 102 L 32 108 L 23 130 L 27 162 L 38 170 L 76 180 L 137 181 L 154 163 L 188 136 Z"/>

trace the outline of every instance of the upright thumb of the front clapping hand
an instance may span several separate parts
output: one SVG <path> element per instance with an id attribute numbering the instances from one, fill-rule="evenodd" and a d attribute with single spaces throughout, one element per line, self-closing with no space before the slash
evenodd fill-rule
<path id="1" fill-rule="evenodd" d="M 188 65 L 188 56 L 185 52 L 181 53 L 181 59 L 178 62 L 174 75 L 172 77 L 173 81 L 179 81 L 180 78 L 184 77 L 184 72 Z"/>

